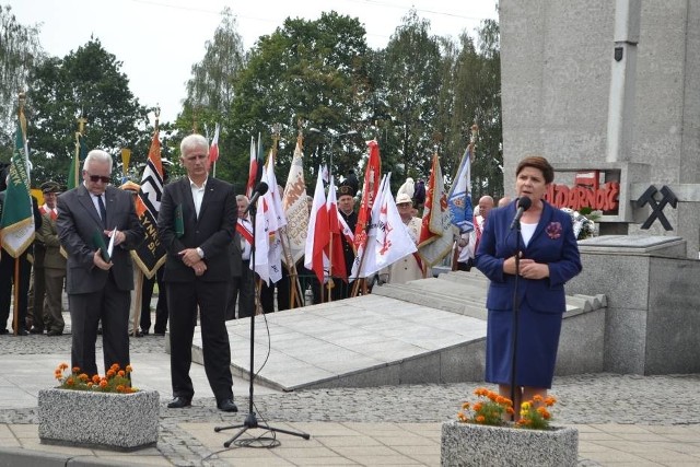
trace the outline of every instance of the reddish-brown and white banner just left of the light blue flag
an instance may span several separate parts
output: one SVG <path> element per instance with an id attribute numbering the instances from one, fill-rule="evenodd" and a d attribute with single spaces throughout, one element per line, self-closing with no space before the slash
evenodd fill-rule
<path id="1" fill-rule="evenodd" d="M 428 266 L 435 266 L 452 250 L 456 233 L 445 196 L 440 157 L 435 153 L 425 194 L 418 254 Z"/>

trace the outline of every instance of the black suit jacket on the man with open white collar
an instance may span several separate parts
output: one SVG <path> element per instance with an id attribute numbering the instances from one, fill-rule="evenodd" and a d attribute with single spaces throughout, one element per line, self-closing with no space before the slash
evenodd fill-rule
<path id="1" fill-rule="evenodd" d="M 175 209 L 182 207 L 185 232 L 179 238 L 175 233 Z M 190 282 L 195 271 L 186 266 L 179 252 L 200 247 L 205 252 L 207 271 L 199 278 L 205 282 L 231 280 L 231 254 L 236 224 L 236 197 L 233 186 L 211 176 L 201 201 L 199 217 L 187 176 L 165 186 L 158 215 L 158 233 L 167 250 L 163 280 Z"/>

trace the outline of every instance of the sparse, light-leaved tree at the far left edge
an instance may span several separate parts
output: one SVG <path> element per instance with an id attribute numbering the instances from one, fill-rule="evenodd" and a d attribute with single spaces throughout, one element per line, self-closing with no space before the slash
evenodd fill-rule
<path id="1" fill-rule="evenodd" d="M 18 109 L 18 95 L 26 91 L 30 69 L 44 55 L 38 39 L 38 26 L 18 23 L 10 5 L 0 4 L 0 138 L 3 161 L 9 160 Z"/>

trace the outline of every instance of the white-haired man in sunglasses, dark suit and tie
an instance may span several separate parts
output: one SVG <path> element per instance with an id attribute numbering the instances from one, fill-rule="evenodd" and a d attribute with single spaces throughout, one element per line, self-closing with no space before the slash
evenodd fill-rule
<path id="1" fill-rule="evenodd" d="M 133 273 L 129 249 L 143 241 L 143 227 L 131 196 L 109 185 L 112 156 L 105 151 L 88 153 L 83 183 L 58 197 L 56 226 L 68 253 L 67 287 L 70 307 L 72 366 L 97 374 L 95 341 L 102 320 L 105 372 L 129 363 L 129 291 Z M 108 260 L 100 244 L 114 249 Z"/>

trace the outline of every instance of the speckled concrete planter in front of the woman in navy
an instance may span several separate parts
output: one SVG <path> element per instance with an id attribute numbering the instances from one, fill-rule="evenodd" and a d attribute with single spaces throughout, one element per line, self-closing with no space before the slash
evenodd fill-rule
<path id="1" fill-rule="evenodd" d="M 574 428 L 525 430 L 444 422 L 442 466 L 575 466 L 579 431 Z"/>

